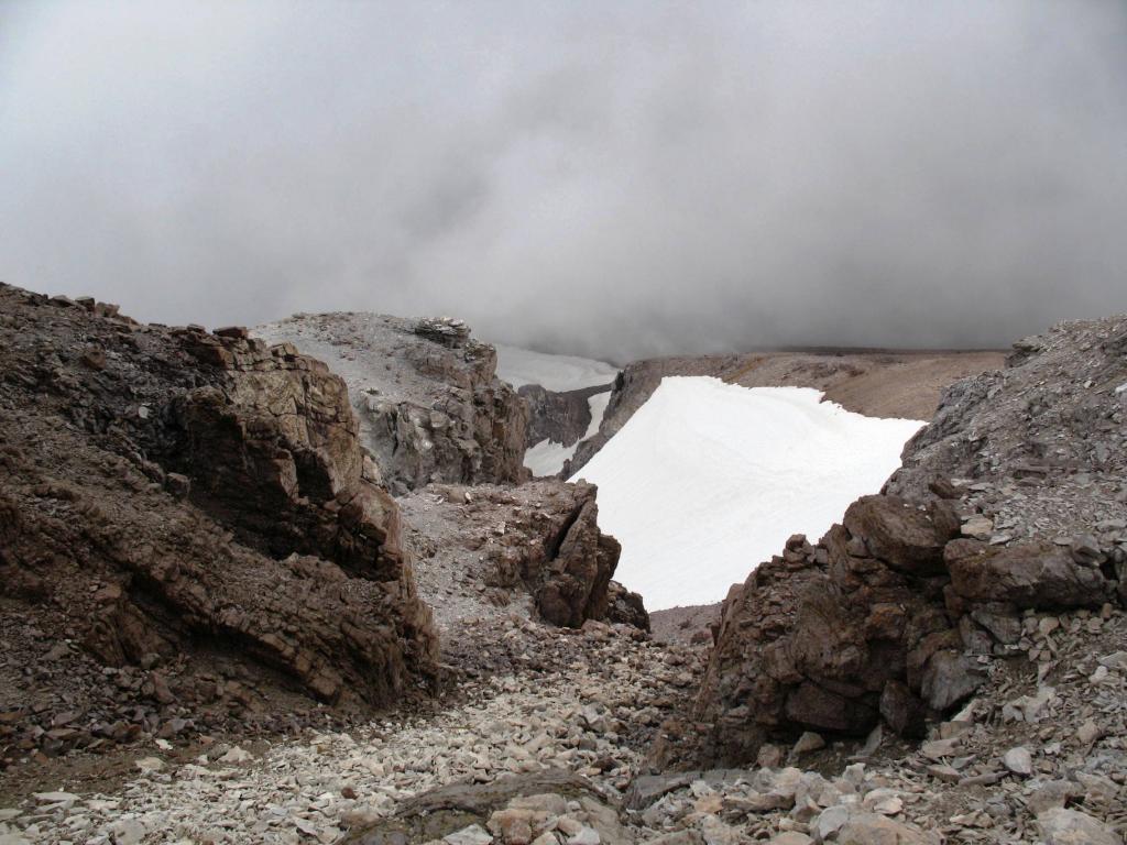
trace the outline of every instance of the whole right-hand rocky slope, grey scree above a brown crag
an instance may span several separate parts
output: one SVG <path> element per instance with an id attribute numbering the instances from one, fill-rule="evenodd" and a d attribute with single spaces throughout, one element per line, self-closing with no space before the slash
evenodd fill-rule
<path id="1" fill-rule="evenodd" d="M 1121 601 L 1127 319 L 1017 349 L 947 392 L 885 495 L 733 589 L 698 701 L 712 755 L 881 717 L 920 736 L 1022 650 L 1023 613 Z"/>

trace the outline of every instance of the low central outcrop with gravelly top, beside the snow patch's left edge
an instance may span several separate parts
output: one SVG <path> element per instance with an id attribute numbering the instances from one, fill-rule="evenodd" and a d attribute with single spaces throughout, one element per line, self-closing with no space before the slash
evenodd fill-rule
<path id="1" fill-rule="evenodd" d="M 405 497 L 407 544 L 438 623 L 515 610 L 568 628 L 609 620 L 648 629 L 640 597 L 611 581 L 620 550 L 598 530 L 595 495 L 593 484 L 541 480 L 432 484 Z"/>

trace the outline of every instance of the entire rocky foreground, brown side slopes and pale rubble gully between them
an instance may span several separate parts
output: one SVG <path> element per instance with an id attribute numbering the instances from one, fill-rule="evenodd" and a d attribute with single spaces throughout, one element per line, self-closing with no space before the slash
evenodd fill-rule
<path id="1" fill-rule="evenodd" d="M 0 295 L 0 843 L 1122 842 L 1127 318 L 669 643 L 592 488 L 397 499 L 305 347 Z"/>

